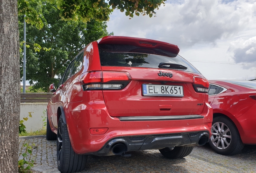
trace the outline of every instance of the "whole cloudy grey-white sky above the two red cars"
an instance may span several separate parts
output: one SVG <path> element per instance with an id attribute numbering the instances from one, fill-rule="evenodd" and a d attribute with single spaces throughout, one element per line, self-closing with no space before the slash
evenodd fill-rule
<path id="1" fill-rule="evenodd" d="M 178 45 L 208 80 L 256 78 L 256 0 L 167 0 L 152 18 L 116 9 L 107 31 Z"/>

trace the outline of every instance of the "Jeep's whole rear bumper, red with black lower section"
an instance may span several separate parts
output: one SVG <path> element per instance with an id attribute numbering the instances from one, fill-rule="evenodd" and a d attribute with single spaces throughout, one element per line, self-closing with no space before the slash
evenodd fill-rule
<path id="1" fill-rule="evenodd" d="M 152 116 L 145 119 L 111 117 L 104 101 L 89 106 L 81 102 L 69 103 L 64 110 L 70 142 L 78 154 L 114 155 L 112 149 L 117 144 L 123 144 L 120 147 L 125 152 L 194 146 L 207 142 L 211 136 L 213 111 L 207 103 L 200 115 L 158 116 L 156 119 Z M 108 131 L 104 135 L 92 135 L 91 128 L 108 128 Z M 132 140 L 141 137 L 139 141 Z"/>

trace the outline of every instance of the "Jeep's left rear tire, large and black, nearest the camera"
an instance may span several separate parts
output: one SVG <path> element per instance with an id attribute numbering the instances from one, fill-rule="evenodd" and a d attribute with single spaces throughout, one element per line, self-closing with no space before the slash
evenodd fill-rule
<path id="1" fill-rule="evenodd" d="M 61 173 L 83 171 L 87 162 L 87 155 L 76 154 L 72 149 L 68 128 L 63 123 L 62 115 L 58 121 L 57 137 L 57 163 L 59 171 Z"/>

